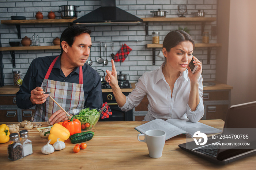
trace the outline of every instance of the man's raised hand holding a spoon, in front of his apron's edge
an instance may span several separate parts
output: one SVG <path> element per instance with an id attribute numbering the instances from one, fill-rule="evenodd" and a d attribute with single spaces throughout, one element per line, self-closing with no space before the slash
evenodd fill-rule
<path id="1" fill-rule="evenodd" d="M 33 105 L 45 103 L 46 98 L 49 96 L 49 94 L 43 94 L 44 92 L 41 87 L 36 87 L 30 93 L 31 96 L 29 97 L 29 100 Z"/>

